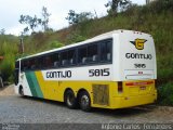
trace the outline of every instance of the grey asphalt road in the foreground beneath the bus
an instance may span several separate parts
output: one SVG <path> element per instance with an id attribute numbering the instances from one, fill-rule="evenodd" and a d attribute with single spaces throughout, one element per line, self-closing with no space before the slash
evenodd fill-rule
<path id="1" fill-rule="evenodd" d="M 85 113 L 69 109 L 64 103 L 21 98 L 19 95 L 0 96 L 1 123 L 145 123 L 173 122 L 173 109 L 157 106 L 125 109 L 93 108 Z"/>

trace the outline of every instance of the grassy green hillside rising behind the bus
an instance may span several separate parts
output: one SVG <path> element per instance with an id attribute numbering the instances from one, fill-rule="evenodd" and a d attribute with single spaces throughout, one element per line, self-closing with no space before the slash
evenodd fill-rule
<path id="1" fill-rule="evenodd" d="M 86 21 L 58 31 L 49 31 L 44 34 L 36 32 L 30 36 L 25 36 L 25 53 L 32 54 L 41 52 L 44 50 L 56 48 L 61 43 L 65 46 L 70 44 L 114 29 L 132 29 L 152 35 L 157 51 L 157 87 L 159 90 L 159 101 L 161 101 L 161 104 L 173 105 L 172 0 L 158 0 L 156 2 L 152 2 L 151 4 L 144 6 L 134 5 L 128 11 L 119 13 L 116 16 L 105 16 L 102 18 Z M 9 39 L 2 40 L 1 36 L 0 46 L 10 44 L 10 47 L 13 47 L 13 49 L 9 49 L 9 51 L 11 51 L 11 55 L 16 56 L 18 55 L 16 52 L 16 48 L 17 42 L 19 41 L 17 41 L 16 39 L 18 38 L 9 37 Z M 8 55 L 8 53 L 9 52 L 5 53 L 4 50 L 0 50 L 0 54 Z M 10 58 L 12 58 L 12 56 L 10 56 Z M 13 66 L 11 67 L 14 68 Z M 5 70 L 6 69 L 8 68 L 5 68 Z M 8 76 L 10 76 L 10 74 L 11 72 L 8 74 Z M 168 94 L 170 94 L 169 100 L 167 96 Z"/>

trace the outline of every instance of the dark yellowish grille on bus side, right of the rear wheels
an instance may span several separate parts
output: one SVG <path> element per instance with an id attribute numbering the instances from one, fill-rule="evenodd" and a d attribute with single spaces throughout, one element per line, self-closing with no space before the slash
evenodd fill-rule
<path id="1" fill-rule="evenodd" d="M 109 105 L 109 86 L 93 84 L 93 104 Z"/>

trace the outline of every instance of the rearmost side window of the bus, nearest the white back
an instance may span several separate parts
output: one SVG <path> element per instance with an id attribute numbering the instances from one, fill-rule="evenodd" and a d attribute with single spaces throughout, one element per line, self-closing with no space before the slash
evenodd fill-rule
<path id="1" fill-rule="evenodd" d="M 111 41 L 103 41 L 101 43 L 101 61 L 102 62 L 111 61 Z"/>

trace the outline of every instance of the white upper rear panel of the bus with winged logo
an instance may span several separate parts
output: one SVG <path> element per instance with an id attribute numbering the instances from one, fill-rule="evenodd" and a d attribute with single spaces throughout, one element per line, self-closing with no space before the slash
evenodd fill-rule
<path id="1" fill-rule="evenodd" d="M 138 39 L 144 41 L 144 43 L 139 43 L 139 49 L 135 44 Z M 156 51 L 150 35 L 124 30 L 119 32 L 119 38 L 115 41 L 118 46 L 114 48 L 114 52 L 119 53 L 117 64 L 114 62 L 114 66 L 117 66 L 115 73 L 119 74 L 117 80 L 149 80 L 157 78 Z M 116 61 L 116 58 L 114 60 Z"/>

